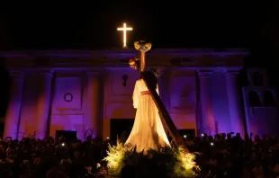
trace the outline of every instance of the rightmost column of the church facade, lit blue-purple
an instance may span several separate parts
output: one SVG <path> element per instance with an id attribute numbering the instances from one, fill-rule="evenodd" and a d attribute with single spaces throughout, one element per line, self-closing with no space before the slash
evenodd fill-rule
<path id="1" fill-rule="evenodd" d="M 227 94 L 229 102 L 229 118 L 231 123 L 231 129 L 235 133 L 239 132 L 242 137 L 245 135 L 242 111 L 241 111 L 241 101 L 240 93 L 238 91 L 238 69 L 227 69 L 226 76 L 226 85 L 227 85 Z"/>

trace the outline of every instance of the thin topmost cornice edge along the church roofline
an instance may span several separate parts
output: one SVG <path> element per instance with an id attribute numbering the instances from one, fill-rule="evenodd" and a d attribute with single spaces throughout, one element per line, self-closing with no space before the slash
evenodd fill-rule
<path id="1" fill-rule="evenodd" d="M 136 49 L 102 49 L 102 50 L 11 50 L 0 51 L 0 58 L 31 58 L 31 57 L 60 57 L 60 58 L 91 58 L 91 57 L 126 57 L 138 54 Z M 151 49 L 147 55 L 183 55 L 183 56 L 247 56 L 247 49 Z"/>

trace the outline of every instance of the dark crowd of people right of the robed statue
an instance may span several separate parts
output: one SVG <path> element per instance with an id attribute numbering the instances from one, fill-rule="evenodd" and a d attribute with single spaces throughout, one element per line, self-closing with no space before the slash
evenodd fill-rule
<path id="1" fill-rule="evenodd" d="M 200 152 L 200 177 L 276 178 L 279 177 L 279 139 L 240 134 L 203 135 L 189 141 L 191 151 Z"/>

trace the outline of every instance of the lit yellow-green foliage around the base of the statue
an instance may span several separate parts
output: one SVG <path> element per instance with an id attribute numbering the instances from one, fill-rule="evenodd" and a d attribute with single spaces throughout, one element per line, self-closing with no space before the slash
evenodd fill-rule
<path id="1" fill-rule="evenodd" d="M 133 165 L 139 177 L 194 177 L 193 154 L 184 155 L 182 149 L 162 147 L 160 150 L 148 150 L 137 153 L 136 147 L 126 150 L 124 145 L 117 141 L 116 146 L 109 146 L 108 156 L 104 158 L 110 165 L 109 174 L 120 175 L 124 165 Z"/>

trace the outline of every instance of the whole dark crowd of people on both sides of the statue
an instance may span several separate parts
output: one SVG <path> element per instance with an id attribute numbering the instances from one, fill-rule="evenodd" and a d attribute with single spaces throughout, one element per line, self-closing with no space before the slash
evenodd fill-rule
<path id="1" fill-rule="evenodd" d="M 196 158 L 201 167 L 197 177 L 279 176 L 278 138 L 253 134 L 241 138 L 240 134 L 229 133 L 214 137 L 204 134 L 185 141 L 191 152 L 201 153 Z M 53 138 L 1 139 L 0 177 L 104 177 L 108 170 L 101 160 L 106 156 L 107 142 L 90 137 L 84 142 L 59 138 L 57 143 Z"/>

